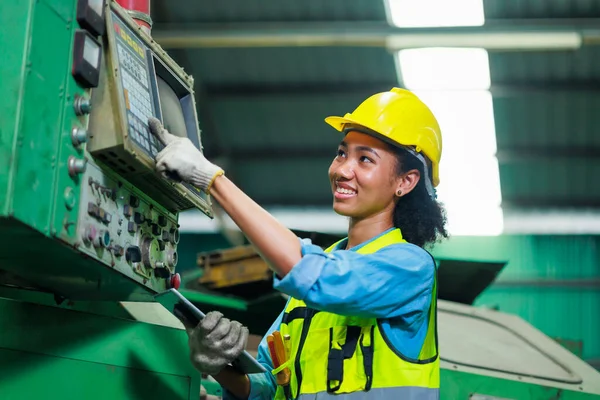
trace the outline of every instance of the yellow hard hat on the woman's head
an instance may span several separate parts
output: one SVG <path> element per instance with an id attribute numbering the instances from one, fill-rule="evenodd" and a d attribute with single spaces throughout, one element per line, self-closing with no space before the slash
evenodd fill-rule
<path id="1" fill-rule="evenodd" d="M 325 122 L 342 132 L 347 125 L 358 125 L 382 136 L 391 144 L 413 147 L 431 162 L 433 186 L 440 183 L 442 132 L 429 109 L 417 95 L 400 88 L 374 94 L 352 113 L 327 117 Z"/>

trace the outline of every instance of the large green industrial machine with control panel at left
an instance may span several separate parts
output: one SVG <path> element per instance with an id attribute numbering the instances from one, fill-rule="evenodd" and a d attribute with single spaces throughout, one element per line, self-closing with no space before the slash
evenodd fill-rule
<path id="1" fill-rule="evenodd" d="M 3 400 L 200 394 L 185 331 L 148 303 L 179 287 L 179 212 L 212 217 L 155 173 L 147 127 L 201 150 L 194 83 L 130 3 L 0 6 Z"/>

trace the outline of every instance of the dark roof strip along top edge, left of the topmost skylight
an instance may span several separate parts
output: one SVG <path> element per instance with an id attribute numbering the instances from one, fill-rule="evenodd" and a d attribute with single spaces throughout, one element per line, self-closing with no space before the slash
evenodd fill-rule
<path id="1" fill-rule="evenodd" d="M 381 0 L 154 0 L 156 23 L 385 21 Z"/>

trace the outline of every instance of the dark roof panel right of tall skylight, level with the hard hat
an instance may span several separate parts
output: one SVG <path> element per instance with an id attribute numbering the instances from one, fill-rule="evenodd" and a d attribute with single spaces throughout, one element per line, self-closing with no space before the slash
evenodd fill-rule
<path id="1" fill-rule="evenodd" d="M 600 93 L 591 92 L 495 98 L 498 148 L 600 146 L 599 109 Z"/>

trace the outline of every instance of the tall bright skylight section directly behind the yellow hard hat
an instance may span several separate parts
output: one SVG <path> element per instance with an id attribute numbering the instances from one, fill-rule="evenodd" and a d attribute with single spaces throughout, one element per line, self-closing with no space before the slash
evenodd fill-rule
<path id="1" fill-rule="evenodd" d="M 487 90 L 416 91 L 436 115 L 443 136 L 438 199 L 453 235 L 503 230 L 492 96 Z"/>

